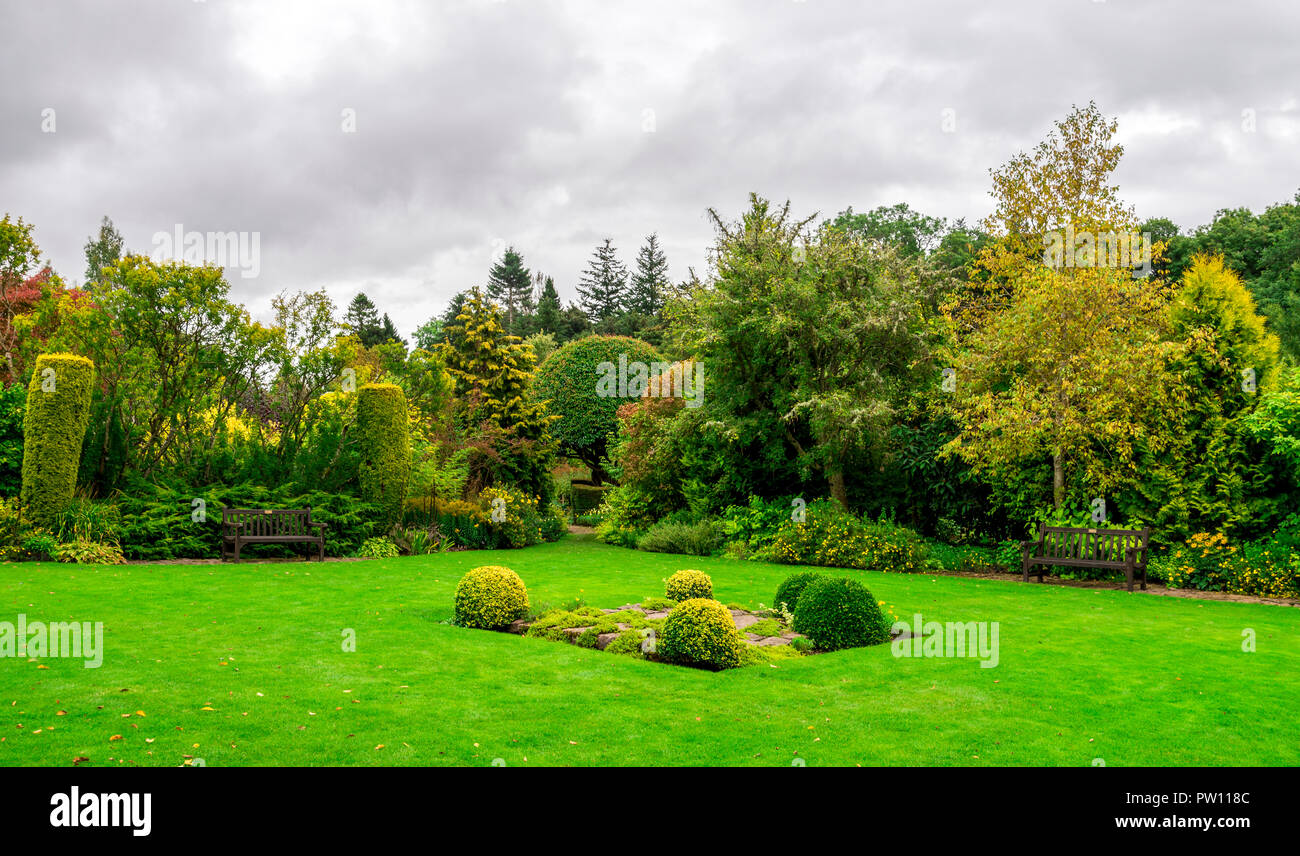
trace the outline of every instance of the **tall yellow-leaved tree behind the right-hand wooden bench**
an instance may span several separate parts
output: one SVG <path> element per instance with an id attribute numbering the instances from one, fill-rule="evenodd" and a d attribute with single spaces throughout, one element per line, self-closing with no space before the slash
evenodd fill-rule
<path id="1" fill-rule="evenodd" d="M 1098 238 L 1136 224 L 1110 183 L 1123 154 L 1115 127 L 1095 104 L 1075 108 L 1032 155 L 991 170 L 993 239 L 976 263 L 988 276 L 944 307 L 961 427 L 945 454 L 1004 497 L 1018 493 L 1020 511 L 1050 502 L 1060 513 L 1067 494 L 1134 479 L 1138 438 L 1176 397 L 1167 286 L 1135 277 L 1132 255 L 1121 265 L 1097 252 Z M 1040 472 L 1050 481 L 1024 484 Z"/>

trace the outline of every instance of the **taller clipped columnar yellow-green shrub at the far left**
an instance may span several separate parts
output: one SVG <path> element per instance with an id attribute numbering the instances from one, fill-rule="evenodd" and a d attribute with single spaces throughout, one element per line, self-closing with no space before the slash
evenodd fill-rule
<path id="1" fill-rule="evenodd" d="M 90 420 L 95 364 L 74 354 L 42 354 L 22 418 L 22 505 L 48 523 L 73 498 Z"/>

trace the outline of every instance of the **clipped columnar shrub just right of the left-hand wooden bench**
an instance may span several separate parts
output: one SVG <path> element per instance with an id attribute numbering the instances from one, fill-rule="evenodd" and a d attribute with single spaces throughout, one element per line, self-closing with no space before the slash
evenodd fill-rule
<path id="1" fill-rule="evenodd" d="M 386 524 L 402 520 L 411 481 L 406 393 L 396 384 L 364 384 L 356 394 L 361 497 L 384 510 Z"/>

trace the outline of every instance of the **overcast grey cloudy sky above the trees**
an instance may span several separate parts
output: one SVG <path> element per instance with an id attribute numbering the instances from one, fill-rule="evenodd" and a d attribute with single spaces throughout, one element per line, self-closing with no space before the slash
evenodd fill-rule
<path id="1" fill-rule="evenodd" d="M 989 211 L 1071 104 L 1118 117 L 1139 216 L 1300 190 L 1300 4 L 1062 0 L 0 0 L 0 212 L 72 281 L 109 215 L 256 234 L 270 295 L 364 290 L 411 330 L 517 247 L 566 301 L 706 208 Z"/>

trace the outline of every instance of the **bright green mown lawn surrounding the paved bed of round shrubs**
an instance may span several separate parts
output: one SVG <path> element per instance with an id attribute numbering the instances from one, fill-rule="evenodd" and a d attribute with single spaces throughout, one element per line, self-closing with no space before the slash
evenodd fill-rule
<path id="1" fill-rule="evenodd" d="M 909 619 L 1000 622 L 1000 665 L 880 645 L 711 674 L 441 623 L 486 563 L 534 604 L 597 606 L 662 595 L 682 567 L 757 606 L 794 570 L 575 536 L 325 565 L 0 565 L 0 621 L 101 621 L 107 648 L 100 669 L 0 660 L 0 764 L 1300 764 L 1292 608 L 845 571 Z"/>

